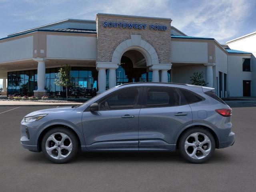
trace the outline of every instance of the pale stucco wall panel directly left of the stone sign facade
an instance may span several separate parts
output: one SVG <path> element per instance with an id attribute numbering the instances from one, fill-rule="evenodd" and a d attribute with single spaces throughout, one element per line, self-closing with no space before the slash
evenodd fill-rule
<path id="1" fill-rule="evenodd" d="M 96 37 L 47 35 L 48 58 L 96 60 Z"/>

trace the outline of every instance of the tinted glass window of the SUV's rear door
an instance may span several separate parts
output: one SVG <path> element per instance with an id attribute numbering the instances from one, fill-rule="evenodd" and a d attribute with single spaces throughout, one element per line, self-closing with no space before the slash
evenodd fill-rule
<path id="1" fill-rule="evenodd" d="M 150 87 L 147 88 L 146 107 L 179 106 L 180 94 L 176 88 Z"/>

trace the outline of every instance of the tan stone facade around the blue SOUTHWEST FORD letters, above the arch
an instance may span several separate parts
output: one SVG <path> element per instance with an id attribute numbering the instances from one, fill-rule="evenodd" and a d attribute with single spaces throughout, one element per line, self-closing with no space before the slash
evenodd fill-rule
<path id="1" fill-rule="evenodd" d="M 147 24 L 146 29 L 130 29 L 130 28 L 115 28 L 104 27 L 103 22 L 125 22 L 125 23 L 143 23 Z M 151 44 L 158 54 L 160 63 L 170 64 L 171 52 L 171 37 L 170 37 L 170 22 L 171 20 L 150 20 L 143 17 L 109 17 L 97 15 L 97 61 L 111 62 L 112 54 L 115 48 L 124 40 L 130 39 L 131 34 L 141 35 L 141 39 Z M 166 31 L 150 30 L 150 24 L 165 25 Z"/>

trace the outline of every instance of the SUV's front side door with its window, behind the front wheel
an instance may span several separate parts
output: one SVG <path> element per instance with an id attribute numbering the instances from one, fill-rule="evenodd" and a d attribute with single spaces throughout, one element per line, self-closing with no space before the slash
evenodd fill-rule
<path id="1" fill-rule="evenodd" d="M 138 150 L 140 88 L 123 88 L 100 99 L 99 110 L 86 110 L 82 127 L 88 150 Z"/>

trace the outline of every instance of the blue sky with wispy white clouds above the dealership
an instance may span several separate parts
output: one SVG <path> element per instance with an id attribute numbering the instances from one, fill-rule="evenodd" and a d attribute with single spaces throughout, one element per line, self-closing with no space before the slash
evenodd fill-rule
<path id="1" fill-rule="evenodd" d="M 0 38 L 66 18 L 95 20 L 97 12 L 171 18 L 185 34 L 221 44 L 256 31 L 255 0 L 0 0 Z"/>

